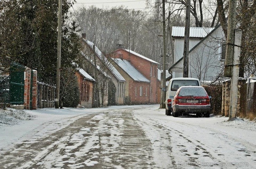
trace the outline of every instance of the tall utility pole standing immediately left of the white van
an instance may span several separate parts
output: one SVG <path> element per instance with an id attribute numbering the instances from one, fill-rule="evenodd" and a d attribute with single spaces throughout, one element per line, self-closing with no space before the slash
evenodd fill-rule
<path id="1" fill-rule="evenodd" d="M 162 0 L 163 3 L 163 81 L 162 81 L 162 108 L 165 108 L 165 88 L 166 88 L 166 32 L 165 32 L 165 0 Z"/>

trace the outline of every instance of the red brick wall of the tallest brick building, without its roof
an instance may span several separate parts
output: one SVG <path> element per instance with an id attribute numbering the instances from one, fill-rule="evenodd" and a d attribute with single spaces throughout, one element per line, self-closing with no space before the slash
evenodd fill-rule
<path id="1" fill-rule="evenodd" d="M 161 93 L 158 93 L 157 87 L 157 67 L 158 64 L 152 63 L 146 59 L 140 58 L 134 54 L 127 52 L 124 49 L 118 49 L 111 56 L 113 58 L 122 58 L 129 60 L 130 63 L 148 80 L 150 80 L 150 86 L 152 87 L 152 94 L 150 95 L 150 103 L 158 103 L 157 98 L 160 97 Z M 151 74 L 152 67 L 152 74 Z M 154 74 L 155 70 L 155 74 Z"/>

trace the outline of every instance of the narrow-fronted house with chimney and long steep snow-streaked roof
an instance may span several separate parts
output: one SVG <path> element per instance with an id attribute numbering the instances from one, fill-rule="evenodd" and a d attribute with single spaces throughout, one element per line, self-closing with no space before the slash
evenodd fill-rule
<path id="1" fill-rule="evenodd" d="M 121 90 L 121 88 L 125 85 L 125 78 L 122 77 L 93 42 L 86 40 L 85 33 L 82 33 L 82 43 L 84 44 L 83 54 L 86 55 L 87 60 L 94 62 L 95 58 L 99 70 L 106 72 L 111 79 L 108 88 L 108 94 L 110 95 L 108 98 L 108 105 L 124 105 L 124 90 Z"/>

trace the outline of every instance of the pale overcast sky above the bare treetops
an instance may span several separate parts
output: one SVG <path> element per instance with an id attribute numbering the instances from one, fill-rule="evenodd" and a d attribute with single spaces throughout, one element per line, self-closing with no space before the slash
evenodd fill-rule
<path id="1" fill-rule="evenodd" d="M 76 4 L 73 5 L 76 10 L 79 7 L 96 6 L 99 8 L 112 8 L 116 6 L 125 6 L 128 9 L 140 9 L 146 8 L 145 0 L 76 0 Z"/>

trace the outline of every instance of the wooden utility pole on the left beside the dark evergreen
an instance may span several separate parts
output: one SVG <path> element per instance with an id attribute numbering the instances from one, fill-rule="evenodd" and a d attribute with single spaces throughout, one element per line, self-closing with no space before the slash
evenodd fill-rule
<path id="1" fill-rule="evenodd" d="M 57 44 L 57 74 L 55 109 L 60 107 L 60 81 L 61 81 L 61 28 L 62 28 L 62 0 L 59 0 L 58 8 L 58 44 Z"/>

